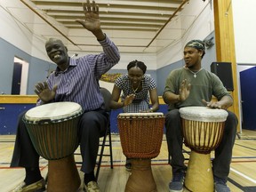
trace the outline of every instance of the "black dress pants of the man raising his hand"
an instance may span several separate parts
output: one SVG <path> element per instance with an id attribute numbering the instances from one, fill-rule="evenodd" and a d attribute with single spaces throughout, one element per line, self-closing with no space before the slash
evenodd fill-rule
<path id="1" fill-rule="evenodd" d="M 26 125 L 21 113 L 18 120 L 15 146 L 12 155 L 11 167 L 33 168 L 39 166 L 39 155 L 28 135 Z M 99 108 L 94 111 L 84 112 L 79 121 L 77 136 L 83 159 L 81 171 L 93 172 L 99 149 L 100 136 L 104 135 L 108 124 L 108 113 Z M 65 140 L 68 142 L 68 140 Z"/>

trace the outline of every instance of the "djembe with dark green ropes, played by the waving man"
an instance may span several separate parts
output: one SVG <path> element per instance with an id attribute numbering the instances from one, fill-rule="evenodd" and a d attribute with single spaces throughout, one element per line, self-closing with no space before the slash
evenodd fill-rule
<path id="1" fill-rule="evenodd" d="M 75 192 L 81 180 L 74 160 L 82 108 L 56 102 L 31 108 L 23 117 L 37 153 L 49 161 L 48 192 Z"/>

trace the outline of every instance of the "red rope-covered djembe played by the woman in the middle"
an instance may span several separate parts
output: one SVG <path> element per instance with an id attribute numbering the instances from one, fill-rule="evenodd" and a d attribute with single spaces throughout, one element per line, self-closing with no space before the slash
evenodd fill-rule
<path id="1" fill-rule="evenodd" d="M 163 113 L 124 113 L 117 116 L 124 156 L 131 158 L 132 171 L 125 192 L 157 191 L 151 159 L 159 155 L 163 133 Z"/>

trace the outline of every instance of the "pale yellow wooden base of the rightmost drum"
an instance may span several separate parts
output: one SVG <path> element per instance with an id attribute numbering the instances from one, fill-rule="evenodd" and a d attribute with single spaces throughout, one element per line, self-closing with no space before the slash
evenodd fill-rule
<path id="1" fill-rule="evenodd" d="M 213 191 L 213 174 L 210 154 L 199 154 L 191 151 L 185 188 L 189 191 Z"/>

